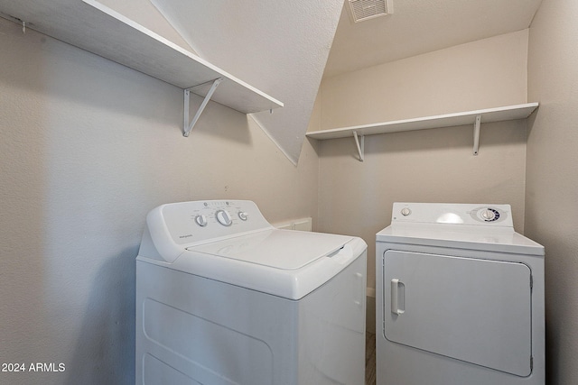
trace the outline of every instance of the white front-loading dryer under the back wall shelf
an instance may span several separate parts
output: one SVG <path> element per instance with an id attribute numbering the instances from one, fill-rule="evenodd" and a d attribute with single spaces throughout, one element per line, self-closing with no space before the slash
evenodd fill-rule
<path id="1" fill-rule="evenodd" d="M 509 205 L 395 203 L 376 241 L 378 385 L 544 385 L 544 247 Z"/>

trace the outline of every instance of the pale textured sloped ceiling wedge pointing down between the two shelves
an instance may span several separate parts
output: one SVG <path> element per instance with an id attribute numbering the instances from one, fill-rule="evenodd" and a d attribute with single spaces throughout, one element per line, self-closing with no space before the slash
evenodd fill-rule
<path id="1" fill-rule="evenodd" d="M 151 0 L 205 60 L 284 103 L 252 117 L 299 160 L 342 0 Z"/>

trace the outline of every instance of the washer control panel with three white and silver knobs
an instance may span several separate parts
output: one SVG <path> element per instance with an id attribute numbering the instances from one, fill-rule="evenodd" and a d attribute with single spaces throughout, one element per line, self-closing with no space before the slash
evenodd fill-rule
<path id="1" fill-rule="evenodd" d="M 149 218 L 150 216 L 150 218 Z M 147 222 L 159 222 L 174 243 L 199 243 L 213 238 L 273 228 L 256 204 L 248 200 L 206 200 L 156 207 Z M 150 225 L 149 225 L 150 227 Z"/>

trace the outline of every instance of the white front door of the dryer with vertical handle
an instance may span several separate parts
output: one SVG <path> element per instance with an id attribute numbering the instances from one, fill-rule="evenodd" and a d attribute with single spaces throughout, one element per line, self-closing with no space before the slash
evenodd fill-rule
<path id="1" fill-rule="evenodd" d="M 517 376 L 531 371 L 531 271 L 517 262 L 384 253 L 387 340 Z"/>

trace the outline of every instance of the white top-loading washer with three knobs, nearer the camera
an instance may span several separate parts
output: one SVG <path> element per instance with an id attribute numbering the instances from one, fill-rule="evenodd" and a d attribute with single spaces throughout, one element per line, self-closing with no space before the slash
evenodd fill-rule
<path id="1" fill-rule="evenodd" d="M 362 385 L 367 244 L 250 201 L 163 205 L 136 258 L 136 384 Z"/>

